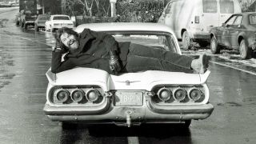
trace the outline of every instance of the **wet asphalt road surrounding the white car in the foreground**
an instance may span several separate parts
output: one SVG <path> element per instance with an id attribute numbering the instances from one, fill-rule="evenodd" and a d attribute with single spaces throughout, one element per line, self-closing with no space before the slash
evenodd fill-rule
<path id="1" fill-rule="evenodd" d="M 50 33 L 15 26 L 17 12 L 0 14 L 0 19 L 9 19 L 0 26 L 0 143 L 128 143 L 130 138 L 145 144 L 256 143 L 256 75 L 215 63 L 210 63 L 208 80 L 214 112 L 210 118 L 192 121 L 189 130 L 177 126 L 88 130 L 82 125 L 62 130 L 42 111 L 54 39 Z"/>

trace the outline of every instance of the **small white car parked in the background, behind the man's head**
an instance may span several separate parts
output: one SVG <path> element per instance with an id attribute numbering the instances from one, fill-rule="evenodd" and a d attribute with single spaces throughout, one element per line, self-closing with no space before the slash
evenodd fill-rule
<path id="1" fill-rule="evenodd" d="M 49 20 L 46 21 L 45 28 L 46 31 L 53 32 L 62 27 L 74 28 L 73 21 L 71 21 L 70 16 L 64 14 L 54 14 L 51 15 Z"/>

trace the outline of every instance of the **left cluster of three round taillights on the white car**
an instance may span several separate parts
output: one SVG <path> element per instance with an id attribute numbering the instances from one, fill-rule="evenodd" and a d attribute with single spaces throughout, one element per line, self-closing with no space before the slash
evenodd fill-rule
<path id="1" fill-rule="evenodd" d="M 53 89 L 51 102 L 53 103 L 98 103 L 102 101 L 102 90 L 100 88 L 62 88 Z"/>

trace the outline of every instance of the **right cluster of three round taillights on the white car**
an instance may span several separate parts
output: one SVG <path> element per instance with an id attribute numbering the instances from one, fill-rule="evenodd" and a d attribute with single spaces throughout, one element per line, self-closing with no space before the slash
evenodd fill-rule
<path id="1" fill-rule="evenodd" d="M 205 94 L 202 87 L 161 87 L 154 89 L 153 100 L 166 103 L 202 102 Z"/>

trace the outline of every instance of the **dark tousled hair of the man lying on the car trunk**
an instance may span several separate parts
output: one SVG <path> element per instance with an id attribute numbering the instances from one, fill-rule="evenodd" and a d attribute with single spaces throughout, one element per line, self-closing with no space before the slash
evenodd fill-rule
<path id="1" fill-rule="evenodd" d="M 63 33 L 66 34 L 73 34 L 74 36 L 76 36 L 78 38 L 79 34 L 77 32 L 75 32 L 74 30 L 68 28 L 68 27 L 62 27 L 60 29 L 57 30 L 56 34 L 55 34 L 55 39 L 61 43 L 62 48 L 64 48 L 65 51 L 68 51 L 69 49 L 62 43 L 61 41 L 61 36 Z"/>

